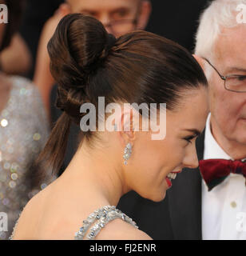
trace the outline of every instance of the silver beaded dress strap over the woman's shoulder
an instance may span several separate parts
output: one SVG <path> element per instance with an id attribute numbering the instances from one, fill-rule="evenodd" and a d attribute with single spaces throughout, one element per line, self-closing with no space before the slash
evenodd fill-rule
<path id="1" fill-rule="evenodd" d="M 121 210 L 116 209 L 115 206 L 104 206 L 98 210 L 95 210 L 92 214 L 89 214 L 88 218 L 83 221 L 83 226 L 81 226 L 80 230 L 75 233 L 74 239 L 83 240 L 86 232 L 89 230 L 89 227 L 96 222 L 90 228 L 89 234 L 86 236 L 86 238 L 89 240 L 93 240 L 107 223 L 116 218 L 121 218 L 123 221 L 128 222 L 138 229 L 136 222 L 133 222 L 132 218 L 129 218 L 127 215 L 123 214 Z"/>

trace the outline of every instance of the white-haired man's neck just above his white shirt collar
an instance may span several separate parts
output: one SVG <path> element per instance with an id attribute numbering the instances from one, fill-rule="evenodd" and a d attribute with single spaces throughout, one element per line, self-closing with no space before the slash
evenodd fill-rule
<path id="1" fill-rule="evenodd" d="M 212 116 L 210 119 L 210 125 L 213 138 L 215 138 L 216 142 L 220 145 L 226 154 L 235 160 L 246 158 L 245 144 L 226 138 L 221 132 L 220 127 L 217 126 Z"/>

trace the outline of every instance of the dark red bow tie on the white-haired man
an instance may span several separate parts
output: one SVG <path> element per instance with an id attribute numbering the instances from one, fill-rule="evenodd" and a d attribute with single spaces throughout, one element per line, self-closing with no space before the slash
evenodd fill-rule
<path id="1" fill-rule="evenodd" d="M 246 162 L 241 162 L 240 160 L 200 160 L 199 168 L 200 174 L 208 186 L 208 191 L 223 182 L 230 173 L 242 174 L 244 175 L 244 178 L 246 178 Z"/>

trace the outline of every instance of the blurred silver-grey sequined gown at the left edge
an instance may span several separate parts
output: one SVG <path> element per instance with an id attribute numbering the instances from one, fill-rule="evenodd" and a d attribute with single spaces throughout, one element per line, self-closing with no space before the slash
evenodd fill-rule
<path id="1" fill-rule="evenodd" d="M 31 190 L 25 178 L 27 166 L 37 158 L 50 131 L 37 87 L 26 78 L 10 79 L 10 98 L 0 112 L 0 214 L 7 214 L 8 223 L 8 231 L 0 226 L 0 240 L 9 238 L 26 202 L 51 181 L 50 176 Z"/>

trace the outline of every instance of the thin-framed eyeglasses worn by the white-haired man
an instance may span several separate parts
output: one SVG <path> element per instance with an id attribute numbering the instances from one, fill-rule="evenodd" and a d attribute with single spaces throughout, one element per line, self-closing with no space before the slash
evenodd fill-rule
<path id="1" fill-rule="evenodd" d="M 215 66 L 213 66 L 207 58 L 204 58 L 204 60 L 208 62 L 208 64 L 212 66 L 214 70 L 216 70 Z M 222 80 L 224 80 L 225 90 L 230 90 L 236 93 L 246 93 L 246 75 L 232 74 L 223 76 L 218 70 L 216 70 L 216 73 Z"/>

